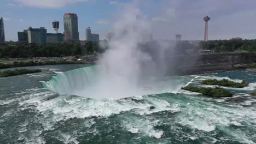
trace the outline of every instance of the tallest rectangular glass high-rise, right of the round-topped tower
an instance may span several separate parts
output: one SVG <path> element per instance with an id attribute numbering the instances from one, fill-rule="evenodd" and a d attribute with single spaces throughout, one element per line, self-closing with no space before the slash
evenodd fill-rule
<path id="1" fill-rule="evenodd" d="M 77 14 L 64 14 L 64 35 L 68 42 L 79 42 Z"/>

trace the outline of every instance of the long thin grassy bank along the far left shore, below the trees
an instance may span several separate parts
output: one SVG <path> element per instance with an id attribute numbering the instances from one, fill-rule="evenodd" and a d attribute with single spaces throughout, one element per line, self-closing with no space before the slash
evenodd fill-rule
<path id="1" fill-rule="evenodd" d="M 78 61 L 13 62 L 13 64 L 0 63 L 0 69 L 15 68 L 15 67 L 30 67 L 30 66 L 38 66 L 38 65 L 83 64 L 83 63 L 85 63 L 85 62 L 78 62 Z"/>

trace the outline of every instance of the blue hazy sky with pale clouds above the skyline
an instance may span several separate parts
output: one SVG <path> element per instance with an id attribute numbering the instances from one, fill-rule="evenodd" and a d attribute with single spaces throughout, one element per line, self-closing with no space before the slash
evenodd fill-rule
<path id="1" fill-rule="evenodd" d="M 60 21 L 62 33 L 64 13 L 78 15 L 81 40 L 88 26 L 104 39 L 115 15 L 130 3 L 152 19 L 154 39 L 174 39 L 179 33 L 183 39 L 200 40 L 206 15 L 211 17 L 209 39 L 256 39 L 255 0 L 1 0 L 0 17 L 4 17 L 6 40 L 17 40 L 17 32 L 29 26 L 53 33 L 53 20 Z"/>

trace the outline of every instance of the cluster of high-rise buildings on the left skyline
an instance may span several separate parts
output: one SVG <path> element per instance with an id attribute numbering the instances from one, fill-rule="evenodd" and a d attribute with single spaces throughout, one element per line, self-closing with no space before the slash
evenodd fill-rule
<path id="1" fill-rule="evenodd" d="M 18 32 L 19 43 L 45 44 L 45 43 L 79 43 L 78 16 L 77 14 L 65 13 L 63 16 L 64 32 L 59 33 L 60 22 L 53 21 L 55 33 L 47 33 L 44 27 L 28 27 L 23 32 Z M 0 43 L 4 40 L 3 19 L 0 21 Z M 3 36 L 2 36 L 3 35 Z M 2 40 L 3 39 L 3 40 Z M 86 28 L 87 41 L 100 41 L 100 35 L 91 33 L 90 27 Z"/>

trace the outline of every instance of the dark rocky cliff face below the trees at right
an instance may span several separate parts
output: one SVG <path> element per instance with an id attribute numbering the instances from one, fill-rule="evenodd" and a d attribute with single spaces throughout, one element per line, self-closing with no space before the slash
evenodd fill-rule
<path id="1" fill-rule="evenodd" d="M 190 75 L 238 69 L 234 64 L 256 62 L 254 53 L 209 53 L 176 57 L 169 74 Z"/>

